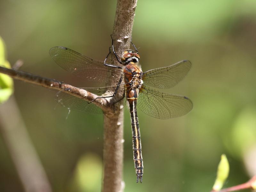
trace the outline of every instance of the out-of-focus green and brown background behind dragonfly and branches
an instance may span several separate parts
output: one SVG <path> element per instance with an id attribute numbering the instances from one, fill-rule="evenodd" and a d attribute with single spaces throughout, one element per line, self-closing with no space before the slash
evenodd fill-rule
<path id="1" fill-rule="evenodd" d="M 65 46 L 104 60 L 115 9 L 114 0 L 1 1 L 0 36 L 8 60 L 22 59 L 23 71 L 85 87 L 87 82 L 60 68 L 48 51 Z M 142 184 L 136 184 L 125 109 L 125 191 L 210 191 L 222 153 L 230 163 L 225 187 L 256 174 L 256 160 L 248 163 L 256 145 L 256 1 L 139 0 L 132 40 L 143 71 L 192 62 L 188 76 L 164 92 L 186 95 L 194 108 L 169 120 L 138 112 Z M 100 191 L 102 116 L 71 111 L 66 119 L 68 110 L 56 104 L 55 91 L 17 80 L 14 87 L 53 191 Z M 23 191 L 2 137 L 0 191 Z"/>

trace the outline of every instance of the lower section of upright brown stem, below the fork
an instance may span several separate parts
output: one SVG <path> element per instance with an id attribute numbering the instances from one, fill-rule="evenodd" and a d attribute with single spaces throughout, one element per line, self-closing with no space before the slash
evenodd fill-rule
<path id="1" fill-rule="evenodd" d="M 123 110 L 104 116 L 103 192 L 123 191 Z"/>

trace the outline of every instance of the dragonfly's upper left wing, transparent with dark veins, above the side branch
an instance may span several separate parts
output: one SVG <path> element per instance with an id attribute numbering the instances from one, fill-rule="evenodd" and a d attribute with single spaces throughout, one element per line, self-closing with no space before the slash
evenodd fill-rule
<path id="1" fill-rule="evenodd" d="M 52 47 L 52 59 L 72 74 L 97 83 L 106 83 L 109 78 L 122 76 L 123 69 L 108 67 L 103 61 L 93 60 L 66 47 Z"/>

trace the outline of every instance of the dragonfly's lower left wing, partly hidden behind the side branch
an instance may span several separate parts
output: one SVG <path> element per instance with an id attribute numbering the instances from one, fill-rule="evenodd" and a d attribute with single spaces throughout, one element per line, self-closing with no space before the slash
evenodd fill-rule
<path id="1" fill-rule="evenodd" d="M 110 96 L 116 91 L 117 85 L 113 86 L 108 86 L 108 87 L 99 87 L 99 88 L 94 88 L 94 87 L 85 87 L 85 89 L 88 92 L 92 92 L 96 95 L 106 95 Z M 125 93 L 127 86 L 126 84 L 120 84 L 119 88 L 117 89 L 117 93 Z M 103 95 L 102 95 L 103 96 Z M 120 100 L 120 98 L 115 98 L 113 97 L 114 102 Z M 56 96 L 55 100 L 63 107 L 75 110 L 75 111 L 81 111 L 81 112 L 86 112 L 86 113 L 93 113 L 93 114 L 101 114 L 102 110 L 97 107 L 96 105 L 92 103 L 88 103 L 88 101 L 80 99 L 78 97 L 75 97 L 73 95 L 70 95 L 66 92 L 59 91 Z"/>

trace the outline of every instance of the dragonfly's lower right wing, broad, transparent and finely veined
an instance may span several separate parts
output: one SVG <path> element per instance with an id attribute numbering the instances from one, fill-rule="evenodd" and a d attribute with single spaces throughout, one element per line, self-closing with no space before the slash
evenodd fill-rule
<path id="1" fill-rule="evenodd" d="M 137 106 L 145 114 L 158 119 L 183 116 L 193 108 L 187 97 L 158 92 L 145 86 L 140 88 Z"/>

